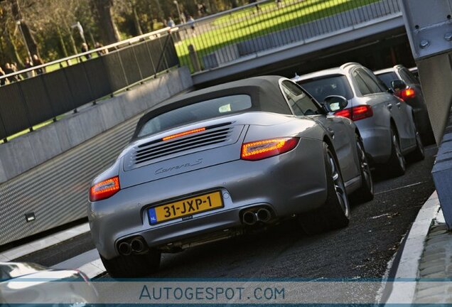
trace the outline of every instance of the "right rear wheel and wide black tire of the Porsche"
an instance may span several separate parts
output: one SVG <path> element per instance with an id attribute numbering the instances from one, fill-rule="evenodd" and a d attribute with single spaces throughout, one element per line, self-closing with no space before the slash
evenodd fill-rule
<path id="1" fill-rule="evenodd" d="M 328 193 L 325 204 L 299 217 L 301 227 L 308 235 L 343 228 L 350 222 L 350 205 L 342 174 L 335 155 L 326 143 L 323 143 L 323 158 Z"/>

